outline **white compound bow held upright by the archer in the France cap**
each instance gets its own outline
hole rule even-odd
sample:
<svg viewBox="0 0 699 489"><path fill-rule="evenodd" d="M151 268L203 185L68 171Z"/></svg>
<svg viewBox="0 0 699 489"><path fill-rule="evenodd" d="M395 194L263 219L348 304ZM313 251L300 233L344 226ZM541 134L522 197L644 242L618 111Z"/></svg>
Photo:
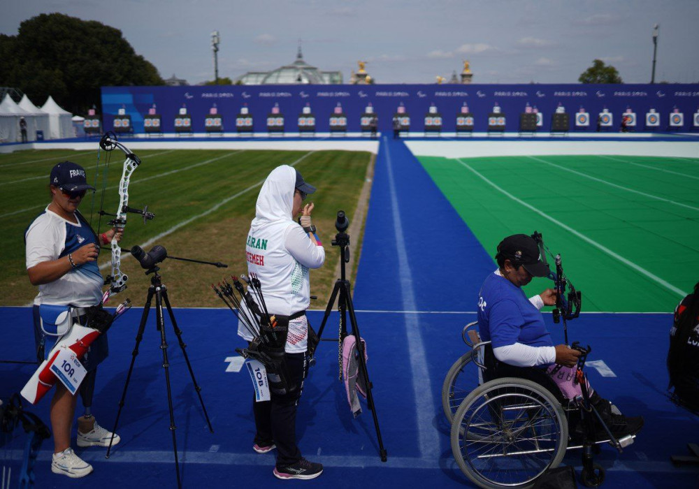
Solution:
<svg viewBox="0 0 699 489"><path fill-rule="evenodd" d="M123 230L126 228L127 225L127 213L131 212L134 214L140 214L143 216L143 224L145 224L146 221L153 219L155 217L155 214L152 212L148 212L148 206L146 205L143 207L143 210L140 209L134 209L132 207L129 207L129 182L131 181L131 173L134 173L134 170L138 168L138 165L140 165L140 158L136 156L129 148L126 146L122 145L117 140L117 136L113 132L108 132L105 133L104 136L102 136L101 140L99 141L99 147L100 149L103 149L108 156L106 156L105 163L104 163L104 170L103 170L103 186L102 186L102 196L101 196L101 203L100 203L100 210L99 210L99 223L97 226L97 234L99 235L99 226L101 225L101 217L102 216L113 216L114 219L111 219L110 221L107 222L109 226L113 226L115 228ZM122 152L124 152L125 159L124 159L124 164L123 164L123 169L122 169L122 178L119 181L119 205L117 206L117 212L115 214L110 214L109 212L105 212L103 210L103 203L104 203L104 192L106 190L106 174L109 169L109 155L110 152L112 152L114 149L121 149ZM99 175L99 150L97 153L97 171L95 173L95 182L97 181L97 177ZM93 207L94 207L94 196L93 196ZM90 213L90 224L92 226L92 212ZM110 275L107 275L107 277L104 279L104 284L109 285L109 290L106 291L106 293L103 295L103 303L106 303L107 300L109 300L110 295L120 293L124 289L127 288L127 280L129 279L129 276L126 275L124 272L121 270L121 256L122 256L122 248L119 245L119 242L117 242L116 237L112 238L111 242L111 251L112 251L112 272Z"/></svg>

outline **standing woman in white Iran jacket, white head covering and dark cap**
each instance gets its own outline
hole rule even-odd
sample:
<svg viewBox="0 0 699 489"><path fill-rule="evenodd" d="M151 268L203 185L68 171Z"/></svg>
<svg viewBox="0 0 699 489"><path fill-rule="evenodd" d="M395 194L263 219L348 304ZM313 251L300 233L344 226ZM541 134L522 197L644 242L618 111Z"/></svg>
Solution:
<svg viewBox="0 0 699 489"><path fill-rule="evenodd" d="M267 453L277 448L273 473L279 479L313 479L323 470L321 464L305 460L296 446L296 406L307 368L308 270L321 267L325 261L325 251L311 223L313 204L303 205L313 192L315 187L304 182L291 166L272 170L257 198L245 247L247 270L259 278L268 312L289 318L284 356L289 384L296 388L283 394L272 391L270 401L252 403L256 427L253 449ZM298 214L301 224L294 221ZM252 340L242 324L238 335Z"/></svg>

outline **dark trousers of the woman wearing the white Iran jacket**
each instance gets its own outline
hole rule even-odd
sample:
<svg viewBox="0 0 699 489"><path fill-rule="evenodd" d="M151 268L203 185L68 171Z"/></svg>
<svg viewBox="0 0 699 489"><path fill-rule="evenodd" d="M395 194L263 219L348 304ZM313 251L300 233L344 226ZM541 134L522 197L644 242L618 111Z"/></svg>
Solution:
<svg viewBox="0 0 699 489"><path fill-rule="evenodd" d="M271 393L271 400L255 402L252 398L252 411L255 416L254 442L259 446L277 446L277 467L286 467L301 460L301 451L296 446L296 407L303 391L305 378L305 353L285 353L289 369L289 382L296 384L296 390L284 395Z"/></svg>

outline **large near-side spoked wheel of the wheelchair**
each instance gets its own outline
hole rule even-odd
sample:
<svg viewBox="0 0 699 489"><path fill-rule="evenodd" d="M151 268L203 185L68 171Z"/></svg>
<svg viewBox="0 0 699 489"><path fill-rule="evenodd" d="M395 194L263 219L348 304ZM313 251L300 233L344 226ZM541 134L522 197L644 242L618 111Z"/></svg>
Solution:
<svg viewBox="0 0 699 489"><path fill-rule="evenodd" d="M456 463L482 488L529 488L561 463L567 446L563 407L526 379L486 382L466 396L452 422Z"/></svg>

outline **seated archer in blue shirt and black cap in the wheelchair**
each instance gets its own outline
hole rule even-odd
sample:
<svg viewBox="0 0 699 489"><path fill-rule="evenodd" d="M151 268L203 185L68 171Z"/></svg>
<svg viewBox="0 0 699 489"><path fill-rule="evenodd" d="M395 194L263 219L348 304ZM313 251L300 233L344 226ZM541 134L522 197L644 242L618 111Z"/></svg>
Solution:
<svg viewBox="0 0 699 489"><path fill-rule="evenodd" d="M521 289L532 277L547 277L539 247L528 235L508 236L498 245L498 270L483 282L478 298L478 328L487 369L484 381L519 377L547 388L566 406L582 395L573 382L580 352L565 344L554 346L539 309L556 303L556 291L547 289L528 299ZM643 426L641 416L621 414L614 404L589 388L590 402L615 437L635 435ZM571 424L575 423L571 418ZM598 423L599 424L599 423ZM582 426L571 426L571 434ZM601 425L600 425L601 428Z"/></svg>

